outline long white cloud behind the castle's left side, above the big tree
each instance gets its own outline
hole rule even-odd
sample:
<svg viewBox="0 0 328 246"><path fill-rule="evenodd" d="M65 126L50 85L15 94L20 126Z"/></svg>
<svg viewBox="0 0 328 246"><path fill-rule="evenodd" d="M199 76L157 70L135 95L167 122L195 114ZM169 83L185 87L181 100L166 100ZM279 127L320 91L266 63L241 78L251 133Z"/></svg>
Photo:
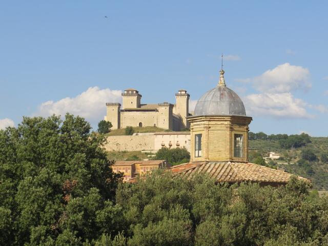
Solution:
<svg viewBox="0 0 328 246"><path fill-rule="evenodd" d="M106 103L120 103L121 91L90 87L75 97L66 97L58 101L42 103L34 115L49 116L52 114L65 115L67 112L85 117L95 123L104 119Z"/></svg>

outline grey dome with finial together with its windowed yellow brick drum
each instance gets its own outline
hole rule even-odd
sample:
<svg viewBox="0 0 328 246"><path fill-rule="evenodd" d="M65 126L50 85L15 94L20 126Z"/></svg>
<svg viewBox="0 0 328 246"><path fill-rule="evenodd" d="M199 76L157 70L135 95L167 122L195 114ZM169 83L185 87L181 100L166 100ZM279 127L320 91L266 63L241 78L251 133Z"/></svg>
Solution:
<svg viewBox="0 0 328 246"><path fill-rule="evenodd" d="M220 70L218 85L197 102L190 122L191 161L248 161L248 131L240 97L226 86Z"/></svg>

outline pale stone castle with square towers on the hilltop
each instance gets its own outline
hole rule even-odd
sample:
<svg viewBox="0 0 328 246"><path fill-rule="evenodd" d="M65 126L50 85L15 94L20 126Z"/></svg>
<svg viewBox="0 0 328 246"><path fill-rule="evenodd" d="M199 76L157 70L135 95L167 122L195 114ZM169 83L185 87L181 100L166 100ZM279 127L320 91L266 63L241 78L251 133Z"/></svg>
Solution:
<svg viewBox="0 0 328 246"><path fill-rule="evenodd" d="M135 89L122 93L122 108L119 103L107 103L105 120L110 121L112 129L131 127L158 127L180 131L189 128L189 97L186 90L175 94L176 104L141 104L141 95Z"/></svg>

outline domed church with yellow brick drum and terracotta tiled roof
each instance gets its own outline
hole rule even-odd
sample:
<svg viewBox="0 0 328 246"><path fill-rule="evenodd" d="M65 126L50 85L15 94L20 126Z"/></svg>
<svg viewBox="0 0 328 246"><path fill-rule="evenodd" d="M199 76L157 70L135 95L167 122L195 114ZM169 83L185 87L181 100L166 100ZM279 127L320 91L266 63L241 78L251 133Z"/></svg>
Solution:
<svg viewBox="0 0 328 246"><path fill-rule="evenodd" d="M169 170L186 178L207 173L216 182L285 185L292 174L248 161L248 132L252 117L246 115L240 97L226 86L223 74L221 69L218 85L198 100L194 114L187 117L190 162ZM128 181L134 182L135 179Z"/></svg>

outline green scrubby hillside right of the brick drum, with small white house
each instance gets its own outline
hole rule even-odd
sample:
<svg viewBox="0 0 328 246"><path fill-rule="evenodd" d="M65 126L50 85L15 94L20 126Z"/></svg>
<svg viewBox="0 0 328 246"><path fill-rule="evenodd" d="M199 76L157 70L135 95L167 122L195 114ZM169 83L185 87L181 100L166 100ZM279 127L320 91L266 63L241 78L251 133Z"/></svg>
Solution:
<svg viewBox="0 0 328 246"><path fill-rule="evenodd" d="M328 137L309 136L308 139L308 134L290 136L279 134L283 137L279 139L279 137L272 137L277 135L270 135L270 137L261 133L260 137L254 137L253 134L258 133L250 133L249 160L251 162L259 162L262 157L269 156L269 152L273 151L279 154L280 158L267 160L265 166L281 168L310 178L315 189L328 190ZM303 136L306 141L297 139L299 136ZM297 147L293 146L293 141L297 142Z"/></svg>

